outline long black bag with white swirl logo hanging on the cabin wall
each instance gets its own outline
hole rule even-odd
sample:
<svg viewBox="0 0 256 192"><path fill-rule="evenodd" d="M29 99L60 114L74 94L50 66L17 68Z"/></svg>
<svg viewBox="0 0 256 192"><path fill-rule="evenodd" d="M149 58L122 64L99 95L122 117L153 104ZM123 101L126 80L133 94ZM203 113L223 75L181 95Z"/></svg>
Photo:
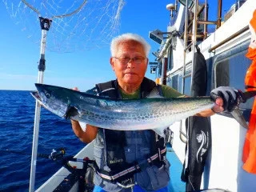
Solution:
<svg viewBox="0 0 256 192"><path fill-rule="evenodd" d="M206 96L207 90L206 59L198 46L196 49L190 93L192 97ZM197 116L186 118L186 133L188 142L186 142L186 158L181 178L186 182L186 191L200 190L202 173L212 146L210 118Z"/></svg>

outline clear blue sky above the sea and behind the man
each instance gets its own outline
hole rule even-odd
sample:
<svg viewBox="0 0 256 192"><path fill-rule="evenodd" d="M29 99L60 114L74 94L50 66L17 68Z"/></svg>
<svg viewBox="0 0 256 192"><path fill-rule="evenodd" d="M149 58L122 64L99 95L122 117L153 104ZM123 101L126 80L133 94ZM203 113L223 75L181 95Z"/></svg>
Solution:
<svg viewBox="0 0 256 192"><path fill-rule="evenodd" d="M22 32L21 26L10 19L10 13L2 2L0 2L2 20L0 90L35 90L34 83L38 82L40 47L30 41L26 32ZM174 3L174 0L126 0L125 2L118 34L139 34L150 43L150 53L157 51L159 45L149 38L149 32L156 29L166 32L170 22L170 12L166 10L166 5ZM210 8L214 8L209 10L211 20L216 17L218 0L208 2ZM235 0L223 0L222 12L229 10L234 2ZM47 33L50 33L50 30ZM41 39L41 34L38 34L38 39ZM66 88L77 86L79 90L86 91L98 82L115 78L110 68L109 46L65 54L46 49L45 58L46 70L43 74L45 84ZM150 54L149 61L154 62L154 59L154 55ZM150 74L150 67L146 71L146 77L153 80L155 78L155 74Z"/></svg>

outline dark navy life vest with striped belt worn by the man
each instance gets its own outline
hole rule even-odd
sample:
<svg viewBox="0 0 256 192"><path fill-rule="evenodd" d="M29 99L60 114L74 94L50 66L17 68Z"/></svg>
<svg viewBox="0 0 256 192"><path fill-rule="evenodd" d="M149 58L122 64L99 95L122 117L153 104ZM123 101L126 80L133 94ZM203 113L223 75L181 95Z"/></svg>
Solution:
<svg viewBox="0 0 256 192"><path fill-rule="evenodd" d="M158 89L162 95L161 86L154 81L144 78L140 88L140 98L146 98L151 90ZM103 97L121 98L118 91L117 80L97 84L94 93ZM126 150L129 150L129 140L133 137L132 133L139 134L142 138L148 140L150 146L144 143L143 150L148 151L144 158L129 161ZM138 138L137 142L141 142L142 138ZM133 149L131 149L133 150ZM94 158L98 165L96 173L106 182L126 182L127 179L133 178L134 174L142 171L147 166L162 166L163 160L166 158L166 145L164 138L155 134L154 130L140 131L120 131L98 129L98 134L94 142ZM97 179L97 177L96 177ZM95 182L95 181L94 181ZM96 181L96 185L98 185Z"/></svg>

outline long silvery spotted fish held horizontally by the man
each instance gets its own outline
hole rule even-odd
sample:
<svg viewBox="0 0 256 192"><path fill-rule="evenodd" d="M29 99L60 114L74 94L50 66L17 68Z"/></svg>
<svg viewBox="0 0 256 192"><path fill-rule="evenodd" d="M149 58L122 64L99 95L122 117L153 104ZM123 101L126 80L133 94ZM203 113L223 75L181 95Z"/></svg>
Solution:
<svg viewBox="0 0 256 192"><path fill-rule="evenodd" d="M174 122L214 106L210 97L113 99L59 86L35 86L38 92L32 95L52 113L110 130L154 130L162 135ZM247 126L241 115L236 118Z"/></svg>

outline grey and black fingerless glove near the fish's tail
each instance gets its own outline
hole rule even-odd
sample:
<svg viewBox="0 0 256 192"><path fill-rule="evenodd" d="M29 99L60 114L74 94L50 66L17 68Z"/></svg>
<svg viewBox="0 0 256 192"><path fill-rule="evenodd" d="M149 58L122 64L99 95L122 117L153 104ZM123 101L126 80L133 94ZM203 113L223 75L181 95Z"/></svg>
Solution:
<svg viewBox="0 0 256 192"><path fill-rule="evenodd" d="M240 92L230 86L219 86L211 90L210 97L216 101L217 98L222 98L224 111L231 112L238 105L238 97Z"/></svg>

